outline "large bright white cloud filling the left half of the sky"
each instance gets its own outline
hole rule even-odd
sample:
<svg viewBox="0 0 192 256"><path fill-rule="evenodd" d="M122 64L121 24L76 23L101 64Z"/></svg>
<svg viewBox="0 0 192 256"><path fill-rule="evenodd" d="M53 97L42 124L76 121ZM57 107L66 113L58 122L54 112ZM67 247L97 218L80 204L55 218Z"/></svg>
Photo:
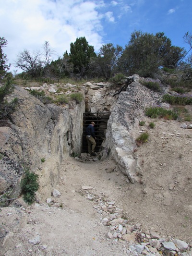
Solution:
<svg viewBox="0 0 192 256"><path fill-rule="evenodd" d="M102 45L99 9L103 0L6 0L0 7L0 37L8 41L4 52L9 62L24 49L41 49L45 41L58 56L70 50L70 43L85 37L95 50ZM105 14L113 22L112 13ZM6 25L5 25L6 24ZM15 69L12 67L12 70Z"/></svg>

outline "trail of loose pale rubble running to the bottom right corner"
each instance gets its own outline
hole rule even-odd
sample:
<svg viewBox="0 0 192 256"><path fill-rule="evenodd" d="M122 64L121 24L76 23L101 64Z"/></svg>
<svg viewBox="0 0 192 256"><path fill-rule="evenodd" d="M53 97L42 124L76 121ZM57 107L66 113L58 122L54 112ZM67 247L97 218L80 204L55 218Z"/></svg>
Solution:
<svg viewBox="0 0 192 256"><path fill-rule="evenodd" d="M95 195L90 192L92 189L89 186L82 187L87 199L96 202L94 208L101 215L101 223L109 228L107 238L127 244L128 255L192 256L192 244L171 237L161 237L157 232L145 231L140 223L129 223L115 201L109 202L104 195Z"/></svg>

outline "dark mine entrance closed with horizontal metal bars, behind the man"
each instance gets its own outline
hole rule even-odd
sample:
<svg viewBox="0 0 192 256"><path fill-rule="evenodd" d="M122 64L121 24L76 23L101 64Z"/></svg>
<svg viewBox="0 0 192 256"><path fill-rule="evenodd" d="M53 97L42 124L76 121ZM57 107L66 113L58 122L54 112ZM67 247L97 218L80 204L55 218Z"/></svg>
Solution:
<svg viewBox="0 0 192 256"><path fill-rule="evenodd" d="M84 125L83 125L83 152L87 152L87 140L86 140L86 127L91 123L95 122L95 134L96 134L96 148L95 152L99 152L101 144L105 139L105 133L107 130L108 119L110 113L109 112L96 112L84 113Z"/></svg>

